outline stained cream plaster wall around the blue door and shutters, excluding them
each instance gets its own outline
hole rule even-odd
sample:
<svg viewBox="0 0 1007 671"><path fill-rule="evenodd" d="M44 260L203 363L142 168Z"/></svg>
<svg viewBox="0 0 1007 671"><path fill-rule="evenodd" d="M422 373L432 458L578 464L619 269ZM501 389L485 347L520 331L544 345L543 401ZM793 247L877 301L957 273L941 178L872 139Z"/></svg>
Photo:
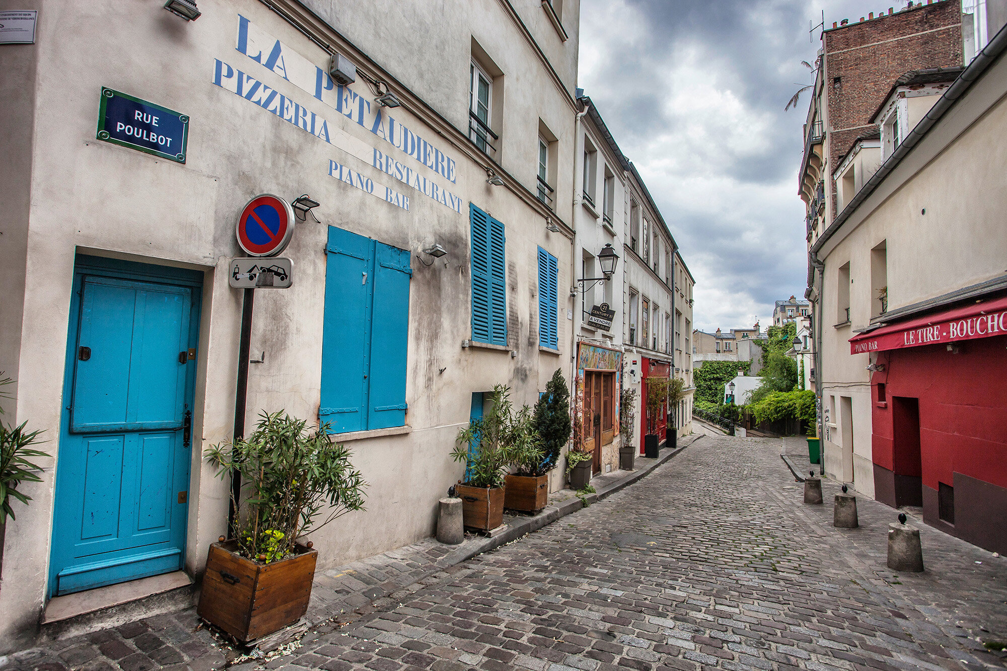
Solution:
<svg viewBox="0 0 1007 671"><path fill-rule="evenodd" d="M454 4L459 12L466 5ZM417 5L417 11L420 8ZM23 204L20 214L15 211L13 223L26 228L27 236L20 257L12 254L11 263L5 264L17 270L20 263L27 269L23 314L31 318L24 321L20 356L10 349L3 350L3 356L5 362L13 362L10 373L20 379L17 420L28 420L33 428L46 431L52 440L48 447L53 458L46 460L44 482L25 488L33 501L18 512L16 522L7 530L5 554L9 561L3 565L0 590L0 652L32 636L45 601L53 467L59 467L54 457L76 253L203 272L185 551L186 569L193 573L200 570L207 545L224 533L227 522L226 484L214 478L201 453L207 445L231 437L242 293L229 287L227 270L230 258L244 256L234 238L235 222L252 195L274 192L291 199L310 193L321 204L314 210L321 224L310 218L298 224L284 252L295 264L293 287L257 291L251 349L253 359L262 352L266 357L264 363L251 366L250 428L261 409L283 408L317 420L327 226L413 253L406 392L410 428L399 435L369 435L349 442L353 463L370 483L368 511L347 515L312 537L320 550L320 567L430 535L437 499L463 474L463 467L454 463L449 453L458 427L468 419L471 393L508 384L517 404L534 403L560 362L568 361L570 331L565 319L559 320L559 355L540 353L537 347L536 249L541 245L559 259L558 284L566 287L571 282L570 242L562 234L546 232L544 219L530 209L526 194L510 186L487 184L483 166L469 158L474 149L467 141L439 135L426 125L429 119L421 118L422 110L412 114L399 109L396 118L421 129L425 139L457 160L457 183L450 186L462 199L462 212L393 179L371 166L356 150L372 145L403 163L412 161L418 170L425 168L391 145L381 144L369 129L315 100L277 72L236 51L239 14L325 69L328 56L323 49L259 2L234 0L200 9L202 16L195 22L184 22L159 4L124 9L112 3L63 1L47 3L39 13L39 43L34 47L39 54L34 134L22 146L13 145L18 149L19 169L27 173L30 165L32 205L27 211L23 185L13 189ZM501 15L498 5L487 3L483 10L482 14L466 14L472 25L458 28L454 36L483 29L480 26L498 27L510 20ZM102 35L101 40L95 39L97 34ZM465 40L467 45L467 36ZM416 72L447 70L447 65L458 73L468 72L467 52L457 62L447 61L428 46L417 59L409 42L369 38L356 43L367 50L378 42L382 48L397 44L396 57L381 64L402 81L422 82ZM549 84L552 88L547 92L535 93L536 87L545 87L543 83L548 82L541 73L542 62L527 42L515 43L522 46L512 46L517 53L509 52L508 57L514 62L516 84L527 86L526 102L541 100L542 114L554 119L553 130L563 148L558 156L559 174L567 175L564 179L569 193L573 115L554 85ZM575 44L572 38L565 48L575 48ZM218 59L327 119L331 143L214 85ZM432 69L431 62L437 68ZM30 80L30 63L18 66ZM530 79L523 82L522 74ZM187 114L186 163L95 140L103 86ZM352 90L361 96L373 96L361 79ZM465 96L455 95L437 112L441 117L459 117L467 110ZM28 98L15 97L15 102L22 102L19 107L11 103L12 114L30 120ZM515 96L514 102L520 103L522 98ZM512 137L515 143L519 141L517 133ZM521 179L527 182L526 174L534 178L532 164L522 165L517 149L514 154L512 165L516 172L520 168ZM409 211L329 176L330 160L408 193ZM426 174L435 176L429 171ZM509 351L462 348L462 342L471 336L469 202L507 226L509 348L514 357ZM559 202L568 216L569 198ZM421 250L435 242L447 250L447 256L423 265L429 257ZM3 247L7 254L6 243ZM4 301L3 309L9 309L8 305ZM559 307L565 311L566 306L569 304L561 291ZM11 317L16 318L19 314Z"/></svg>

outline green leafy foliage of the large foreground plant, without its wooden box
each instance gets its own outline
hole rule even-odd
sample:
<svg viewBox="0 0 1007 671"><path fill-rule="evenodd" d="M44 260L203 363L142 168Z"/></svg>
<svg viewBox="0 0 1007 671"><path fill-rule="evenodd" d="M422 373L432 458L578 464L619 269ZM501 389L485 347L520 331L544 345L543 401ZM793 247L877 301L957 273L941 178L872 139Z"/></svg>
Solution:
<svg viewBox="0 0 1007 671"><path fill-rule="evenodd" d="M327 423L308 426L283 410L259 417L248 438L210 445L204 455L222 479L241 474L239 553L270 563L293 554L304 534L365 510L368 484Z"/></svg>

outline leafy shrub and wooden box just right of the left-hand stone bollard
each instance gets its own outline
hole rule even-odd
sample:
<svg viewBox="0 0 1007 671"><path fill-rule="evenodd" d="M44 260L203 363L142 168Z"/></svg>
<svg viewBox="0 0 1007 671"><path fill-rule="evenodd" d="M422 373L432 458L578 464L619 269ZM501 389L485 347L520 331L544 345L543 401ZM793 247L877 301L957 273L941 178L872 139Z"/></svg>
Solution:
<svg viewBox="0 0 1007 671"><path fill-rule="evenodd" d="M503 524L503 474L512 461L515 419L510 392L502 385L493 387L489 410L458 431L451 452L455 461L465 464L465 482L455 488L463 524L482 532Z"/></svg>

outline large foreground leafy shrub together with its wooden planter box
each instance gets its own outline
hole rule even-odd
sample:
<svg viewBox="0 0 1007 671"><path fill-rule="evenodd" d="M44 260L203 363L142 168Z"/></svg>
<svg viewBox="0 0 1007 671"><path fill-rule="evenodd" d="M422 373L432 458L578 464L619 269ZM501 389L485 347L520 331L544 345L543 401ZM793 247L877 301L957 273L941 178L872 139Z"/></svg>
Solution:
<svg viewBox="0 0 1007 671"><path fill-rule="evenodd" d="M309 427L282 410L260 417L248 438L205 452L219 476L237 473L244 485L237 538L209 546L197 613L242 643L304 615L317 551L297 540L364 510L367 487L327 424Z"/></svg>

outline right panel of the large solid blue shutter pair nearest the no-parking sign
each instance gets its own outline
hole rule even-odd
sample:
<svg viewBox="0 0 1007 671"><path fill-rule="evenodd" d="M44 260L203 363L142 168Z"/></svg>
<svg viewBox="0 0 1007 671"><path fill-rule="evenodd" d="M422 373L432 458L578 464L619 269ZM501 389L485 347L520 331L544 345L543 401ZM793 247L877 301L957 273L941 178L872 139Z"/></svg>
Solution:
<svg viewBox="0 0 1007 671"><path fill-rule="evenodd" d="M380 242L374 282L368 428L406 423L406 350L409 337L409 252Z"/></svg>

